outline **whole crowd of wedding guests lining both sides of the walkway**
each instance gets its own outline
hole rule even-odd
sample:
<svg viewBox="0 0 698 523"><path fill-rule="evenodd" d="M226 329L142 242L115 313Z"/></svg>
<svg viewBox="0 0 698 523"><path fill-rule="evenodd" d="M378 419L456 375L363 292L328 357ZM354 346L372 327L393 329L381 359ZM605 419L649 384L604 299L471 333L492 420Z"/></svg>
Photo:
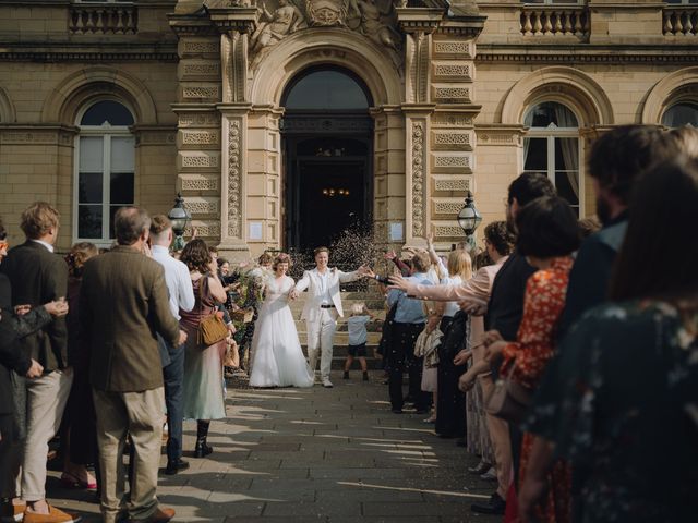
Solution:
<svg viewBox="0 0 698 523"><path fill-rule="evenodd" d="M526 172L508 186L506 220L484 228L483 251L464 242L442 257L429 235L425 248L386 254L389 278L362 266L341 281L372 276L386 294L392 413L433 408L434 435L480 458L469 471L494 491L471 511L520 523L693 521L698 131L612 129L593 141L587 173L600 223L578 220L547 177ZM104 253L79 243L56 254L60 216L47 203L28 206L21 228L26 241L10 250L0 222L0 516L80 521L47 501L48 445L60 433L61 482L97 489L104 521L171 520L156 496L164 426L164 473L190 466L184 418L197 421L192 455L214 452L231 346L243 366L269 332L254 337L250 318L236 332L228 313L264 317L278 297L296 332L290 258L265 253L242 271L192 239L176 259L167 217L139 207L116 212ZM334 332L339 278L330 290L328 250L316 254L317 311ZM345 378L359 357L368 380L371 316L363 305L351 314Z"/></svg>

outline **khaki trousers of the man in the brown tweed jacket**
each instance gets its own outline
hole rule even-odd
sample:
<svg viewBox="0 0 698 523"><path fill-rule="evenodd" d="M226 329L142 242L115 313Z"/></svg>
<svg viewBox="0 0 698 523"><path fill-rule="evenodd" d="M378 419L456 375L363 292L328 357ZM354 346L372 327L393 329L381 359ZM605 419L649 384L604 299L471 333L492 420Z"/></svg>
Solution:
<svg viewBox="0 0 698 523"><path fill-rule="evenodd" d="M120 512L149 518L157 509L157 472L163 438L163 387L143 392L106 392L93 389L97 413L97 445L101 467L101 515L115 523ZM133 484L124 497L122 462L127 434L133 446Z"/></svg>

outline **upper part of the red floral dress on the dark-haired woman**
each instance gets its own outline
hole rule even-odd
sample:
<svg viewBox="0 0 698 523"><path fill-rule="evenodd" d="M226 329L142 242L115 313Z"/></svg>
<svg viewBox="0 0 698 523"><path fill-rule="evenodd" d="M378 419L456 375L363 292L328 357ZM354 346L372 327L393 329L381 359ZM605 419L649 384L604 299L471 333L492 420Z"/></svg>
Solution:
<svg viewBox="0 0 698 523"><path fill-rule="evenodd" d="M517 341L507 343L501 373L529 388L535 388L555 352L555 331L567 294L573 259L554 258L550 268L534 272L526 284L524 316ZM516 362L516 366L514 363Z"/></svg>

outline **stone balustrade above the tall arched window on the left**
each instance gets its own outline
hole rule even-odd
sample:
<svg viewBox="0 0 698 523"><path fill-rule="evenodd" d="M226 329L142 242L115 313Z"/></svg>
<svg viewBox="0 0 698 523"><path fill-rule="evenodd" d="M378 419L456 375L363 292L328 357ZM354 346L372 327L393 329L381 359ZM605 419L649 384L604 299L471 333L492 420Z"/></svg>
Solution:
<svg viewBox="0 0 698 523"><path fill-rule="evenodd" d="M139 11L135 5L130 4L73 4L68 25L71 33L136 33Z"/></svg>

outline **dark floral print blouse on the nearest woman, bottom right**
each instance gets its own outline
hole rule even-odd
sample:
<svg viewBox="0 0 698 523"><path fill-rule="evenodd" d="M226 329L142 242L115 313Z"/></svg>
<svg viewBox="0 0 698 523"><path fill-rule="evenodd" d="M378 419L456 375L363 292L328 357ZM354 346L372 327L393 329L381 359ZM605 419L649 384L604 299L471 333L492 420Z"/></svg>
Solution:
<svg viewBox="0 0 698 523"><path fill-rule="evenodd" d="M571 461L583 523L698 521L698 307L686 311L603 305L561 344L557 394L537 398L527 426Z"/></svg>

